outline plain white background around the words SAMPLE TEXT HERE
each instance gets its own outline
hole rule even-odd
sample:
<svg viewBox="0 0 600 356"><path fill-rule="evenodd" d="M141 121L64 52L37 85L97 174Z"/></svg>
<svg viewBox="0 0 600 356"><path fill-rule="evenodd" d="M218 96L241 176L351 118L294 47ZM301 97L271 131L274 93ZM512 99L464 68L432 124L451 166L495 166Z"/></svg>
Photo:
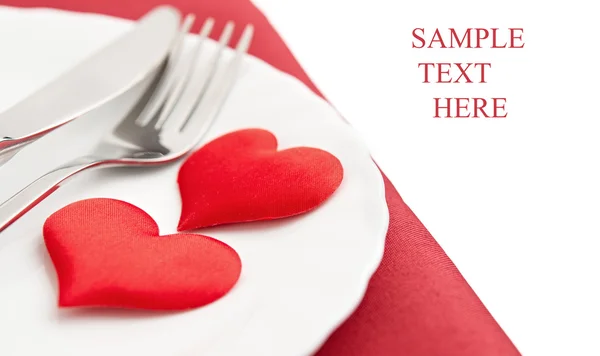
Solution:
<svg viewBox="0 0 600 356"><path fill-rule="evenodd" d="M600 354L596 2L255 3L519 350ZM526 45L412 49L415 27L522 27ZM488 84L417 68L478 61ZM508 118L433 118L457 96L507 97Z"/></svg>

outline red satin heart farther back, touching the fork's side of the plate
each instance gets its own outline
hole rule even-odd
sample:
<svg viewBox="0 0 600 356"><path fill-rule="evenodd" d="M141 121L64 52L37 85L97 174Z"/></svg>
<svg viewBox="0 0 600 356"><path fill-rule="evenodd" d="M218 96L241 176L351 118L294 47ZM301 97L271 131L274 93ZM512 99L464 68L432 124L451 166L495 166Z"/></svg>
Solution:
<svg viewBox="0 0 600 356"><path fill-rule="evenodd" d="M178 229L298 215L329 198L342 178L340 161L326 151L277 151L269 131L235 131L209 142L181 166Z"/></svg>

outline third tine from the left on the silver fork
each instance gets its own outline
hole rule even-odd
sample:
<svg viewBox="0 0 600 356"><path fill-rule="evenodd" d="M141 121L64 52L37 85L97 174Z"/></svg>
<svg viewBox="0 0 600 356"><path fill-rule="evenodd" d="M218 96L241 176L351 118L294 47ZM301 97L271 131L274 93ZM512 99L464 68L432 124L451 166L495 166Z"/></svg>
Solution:
<svg viewBox="0 0 600 356"><path fill-rule="evenodd" d="M198 103L202 100L206 92L208 83L217 71L219 58L231 40L234 28L235 25L233 22L227 22L219 36L217 50L210 57L209 62L207 64L202 61L196 63L192 74L193 79L188 81L182 96L179 98L179 102L171 112L172 115L165 119L164 125L168 126L169 130L179 132L189 116L197 108Z"/></svg>

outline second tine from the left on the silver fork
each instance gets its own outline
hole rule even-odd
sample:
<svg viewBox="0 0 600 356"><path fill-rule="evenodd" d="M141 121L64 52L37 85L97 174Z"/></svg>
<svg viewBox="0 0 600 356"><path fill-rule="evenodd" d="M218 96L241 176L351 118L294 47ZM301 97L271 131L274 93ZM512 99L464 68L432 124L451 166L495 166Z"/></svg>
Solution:
<svg viewBox="0 0 600 356"><path fill-rule="evenodd" d="M189 80L191 78L191 74L194 71L194 63L196 63L198 61L198 57L200 56L200 53L202 52L202 45L206 42L205 40L210 35L210 32L212 31L214 24L215 24L215 20L213 18L208 18L208 19L206 19L206 21L204 21L204 24L202 25L202 28L200 29L200 32L198 33L198 43L196 44L196 47L194 48L194 52L191 56L191 59L184 66L184 70L182 70L182 73L180 73L178 75L179 79L178 79L177 83L173 86L173 90L169 94L169 97L168 97L162 111L160 112L160 116L158 117L158 119L156 121L156 125L155 125L156 129L160 129L162 127L162 125L164 124L167 117L173 111L173 108L177 104L178 100L181 98L181 93L182 93L183 89L186 87L187 83L189 82Z"/></svg>

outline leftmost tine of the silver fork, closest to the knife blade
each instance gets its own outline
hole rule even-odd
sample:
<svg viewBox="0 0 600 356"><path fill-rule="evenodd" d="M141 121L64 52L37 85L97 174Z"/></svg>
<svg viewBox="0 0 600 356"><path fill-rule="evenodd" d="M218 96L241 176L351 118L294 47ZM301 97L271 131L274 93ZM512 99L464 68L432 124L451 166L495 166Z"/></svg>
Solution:
<svg viewBox="0 0 600 356"><path fill-rule="evenodd" d="M156 90L152 93L150 100L147 102L144 110L141 112L139 117L136 119L136 124L145 126L151 122L156 121L159 110L163 107L165 99L173 87L177 77L176 68L181 61L181 53L184 47L185 36L189 32L190 28L194 24L195 16L188 14L183 20L179 34L173 44L173 49L169 54L167 68L160 78ZM154 120L153 120L154 119Z"/></svg>

